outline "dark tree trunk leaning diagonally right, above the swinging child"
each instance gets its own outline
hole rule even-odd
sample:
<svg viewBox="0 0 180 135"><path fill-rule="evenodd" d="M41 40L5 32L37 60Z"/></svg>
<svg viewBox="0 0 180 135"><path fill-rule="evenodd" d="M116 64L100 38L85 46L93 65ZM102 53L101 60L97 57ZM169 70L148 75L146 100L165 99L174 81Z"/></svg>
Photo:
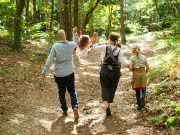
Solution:
<svg viewBox="0 0 180 135"><path fill-rule="evenodd" d="M100 2L100 0L97 0L95 5L87 12L86 17L84 19L84 24L83 24L83 28L86 28L86 25L89 23L89 20L94 12L94 10L96 9L96 7L98 6L98 3Z"/></svg>

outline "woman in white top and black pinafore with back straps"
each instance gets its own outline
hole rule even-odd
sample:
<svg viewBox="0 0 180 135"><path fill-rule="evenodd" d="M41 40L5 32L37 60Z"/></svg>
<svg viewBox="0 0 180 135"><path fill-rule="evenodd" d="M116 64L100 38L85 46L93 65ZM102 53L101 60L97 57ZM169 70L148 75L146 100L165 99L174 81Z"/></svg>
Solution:
<svg viewBox="0 0 180 135"><path fill-rule="evenodd" d="M100 83L102 90L103 108L106 116L111 116L110 103L113 102L114 95L121 76L121 65L129 66L122 49L117 44L120 35L112 32L109 35L107 44L93 45L92 50L102 50L102 66L100 71Z"/></svg>

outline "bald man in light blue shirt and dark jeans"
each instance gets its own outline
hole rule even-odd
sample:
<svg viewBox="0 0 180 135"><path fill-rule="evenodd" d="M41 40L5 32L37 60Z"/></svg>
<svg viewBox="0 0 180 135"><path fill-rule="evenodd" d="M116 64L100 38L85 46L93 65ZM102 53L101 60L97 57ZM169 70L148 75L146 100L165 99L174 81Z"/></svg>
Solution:
<svg viewBox="0 0 180 135"><path fill-rule="evenodd" d="M67 116L67 103L65 99L66 89L71 97L71 105L74 112L74 119L78 120L78 102L74 82L74 68L73 68L73 51L77 47L78 37L76 28L73 29L73 41L66 40L64 30L59 30L57 33L58 41L52 46L45 67L42 70L42 77L45 78L49 66L55 64L55 82L58 86L59 99L63 114Z"/></svg>

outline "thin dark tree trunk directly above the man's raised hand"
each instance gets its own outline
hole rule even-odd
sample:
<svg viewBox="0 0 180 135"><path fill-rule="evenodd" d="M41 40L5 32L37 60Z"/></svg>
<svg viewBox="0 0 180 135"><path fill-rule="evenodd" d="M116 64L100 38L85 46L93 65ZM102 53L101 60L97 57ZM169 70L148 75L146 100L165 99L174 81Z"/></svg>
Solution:
<svg viewBox="0 0 180 135"><path fill-rule="evenodd" d="M79 1L74 0L74 26L76 26L79 29Z"/></svg>

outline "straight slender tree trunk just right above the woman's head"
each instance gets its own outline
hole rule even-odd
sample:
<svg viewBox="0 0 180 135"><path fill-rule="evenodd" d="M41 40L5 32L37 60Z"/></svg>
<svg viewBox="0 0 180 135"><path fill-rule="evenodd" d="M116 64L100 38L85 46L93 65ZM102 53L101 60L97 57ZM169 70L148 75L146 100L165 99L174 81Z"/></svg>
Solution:
<svg viewBox="0 0 180 135"><path fill-rule="evenodd" d="M124 16L124 0L120 0L120 24L121 24L121 29L120 29L120 33L121 33L121 43L125 44L126 43L126 36L125 36L125 16Z"/></svg>

